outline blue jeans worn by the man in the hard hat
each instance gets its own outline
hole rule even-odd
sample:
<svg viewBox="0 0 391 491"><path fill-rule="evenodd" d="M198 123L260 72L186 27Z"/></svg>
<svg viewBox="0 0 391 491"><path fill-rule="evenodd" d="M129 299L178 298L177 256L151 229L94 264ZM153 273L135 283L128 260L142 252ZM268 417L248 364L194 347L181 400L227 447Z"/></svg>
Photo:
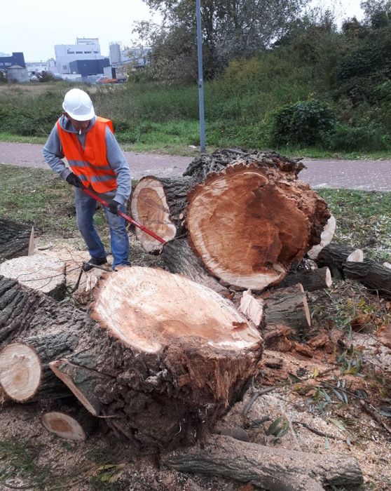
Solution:
<svg viewBox="0 0 391 491"><path fill-rule="evenodd" d="M99 194L91 187L89 189L106 201L113 199L116 194L116 191ZM94 224L94 214L97 202L87 194L84 194L81 189L76 188L75 206L77 226L87 245L90 256L95 257L96 259L103 259L106 257L107 252L104 250L104 245L100 240L100 236L97 234L97 229ZM103 208L107 223L110 227L111 253L114 257L113 269L120 264L130 264L129 238L128 231L125 227L125 219L118 215L114 215L114 213L110 213L105 206ZM125 206L122 205L120 210L125 212Z"/></svg>

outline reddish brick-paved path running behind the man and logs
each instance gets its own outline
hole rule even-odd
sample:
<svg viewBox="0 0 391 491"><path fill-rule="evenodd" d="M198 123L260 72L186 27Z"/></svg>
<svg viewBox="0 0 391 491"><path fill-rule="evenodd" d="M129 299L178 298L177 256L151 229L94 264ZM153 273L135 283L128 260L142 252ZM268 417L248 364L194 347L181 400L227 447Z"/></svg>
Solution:
<svg viewBox="0 0 391 491"><path fill-rule="evenodd" d="M125 152L132 168L132 177L144 175L170 177L181 175L192 157L138 154ZM345 187L366 191L391 191L391 161L370 160L310 160L300 178L312 187ZM42 157L42 145L0 142L0 163L14 166L47 168Z"/></svg>

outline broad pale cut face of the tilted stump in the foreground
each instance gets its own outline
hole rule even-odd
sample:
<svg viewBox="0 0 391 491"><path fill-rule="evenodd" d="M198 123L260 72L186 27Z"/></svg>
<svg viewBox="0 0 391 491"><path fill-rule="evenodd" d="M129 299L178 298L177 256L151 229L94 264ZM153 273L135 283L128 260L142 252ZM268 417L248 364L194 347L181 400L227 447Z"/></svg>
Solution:
<svg viewBox="0 0 391 491"><path fill-rule="evenodd" d="M203 285L161 269L129 271L109 276L92 307L92 318L125 344L154 353L170 339L197 336L235 350L258 339L230 302Z"/></svg>

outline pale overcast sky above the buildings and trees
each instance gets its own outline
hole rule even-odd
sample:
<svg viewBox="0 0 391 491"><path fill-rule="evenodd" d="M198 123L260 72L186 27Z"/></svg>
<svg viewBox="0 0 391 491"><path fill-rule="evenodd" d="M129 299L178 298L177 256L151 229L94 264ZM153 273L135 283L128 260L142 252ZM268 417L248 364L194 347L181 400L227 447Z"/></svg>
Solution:
<svg viewBox="0 0 391 491"><path fill-rule="evenodd" d="M319 3L319 0L314 0ZM339 19L357 15L361 0L324 0L337 4ZM132 43L132 22L151 18L142 0L2 0L0 6L0 52L22 51L26 61L54 58L55 44L72 44L76 37L97 37L102 55L111 41Z"/></svg>

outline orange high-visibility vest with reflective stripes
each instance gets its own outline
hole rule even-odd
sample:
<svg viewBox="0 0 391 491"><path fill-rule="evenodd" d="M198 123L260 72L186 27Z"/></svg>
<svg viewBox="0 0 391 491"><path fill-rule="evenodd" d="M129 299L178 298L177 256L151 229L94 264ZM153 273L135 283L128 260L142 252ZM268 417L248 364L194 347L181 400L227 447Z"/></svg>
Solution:
<svg viewBox="0 0 391 491"><path fill-rule="evenodd" d="M114 133L113 123L109 119L96 116L95 124L85 133L84 149L76 133L61 128L57 121L57 131L62 152L67 157L69 167L85 186L91 185L97 193L107 193L117 187L116 173L109 166L106 155L106 128Z"/></svg>

